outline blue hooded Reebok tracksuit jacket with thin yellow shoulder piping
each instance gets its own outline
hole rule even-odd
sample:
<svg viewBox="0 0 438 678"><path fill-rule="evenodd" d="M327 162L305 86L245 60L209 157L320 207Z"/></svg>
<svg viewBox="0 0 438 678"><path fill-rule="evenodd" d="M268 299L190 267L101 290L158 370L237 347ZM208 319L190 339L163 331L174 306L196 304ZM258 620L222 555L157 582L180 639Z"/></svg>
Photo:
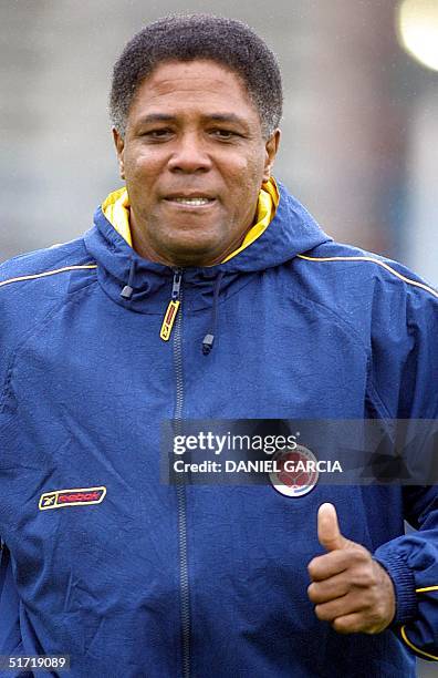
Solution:
<svg viewBox="0 0 438 678"><path fill-rule="evenodd" d="M280 189L250 247L182 271L167 342L174 271L101 209L83 238L0 267L0 654L67 653L72 678L398 678L438 657L436 487L159 482L164 419L437 418L437 292ZM325 501L393 578L382 634L313 612Z"/></svg>

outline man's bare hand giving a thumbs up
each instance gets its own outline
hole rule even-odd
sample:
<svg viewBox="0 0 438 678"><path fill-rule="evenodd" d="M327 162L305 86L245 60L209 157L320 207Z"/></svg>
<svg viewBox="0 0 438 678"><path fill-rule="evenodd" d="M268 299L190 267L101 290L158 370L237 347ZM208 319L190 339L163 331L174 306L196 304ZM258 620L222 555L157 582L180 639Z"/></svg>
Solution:
<svg viewBox="0 0 438 678"><path fill-rule="evenodd" d="M333 504L320 506L317 538L327 552L307 566L317 618L340 634L384 630L395 615L393 582L369 551L342 535Z"/></svg>

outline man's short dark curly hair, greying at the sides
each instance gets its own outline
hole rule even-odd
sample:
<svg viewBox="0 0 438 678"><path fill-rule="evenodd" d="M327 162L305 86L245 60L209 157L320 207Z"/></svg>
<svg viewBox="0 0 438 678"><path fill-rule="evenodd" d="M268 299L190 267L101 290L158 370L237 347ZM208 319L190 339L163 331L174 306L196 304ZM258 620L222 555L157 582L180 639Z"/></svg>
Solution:
<svg viewBox="0 0 438 678"><path fill-rule="evenodd" d="M170 16L129 40L114 65L109 114L124 136L138 86L163 62L209 59L234 71L259 111L262 134L279 126L283 92L275 55L254 31L234 19L209 14Z"/></svg>

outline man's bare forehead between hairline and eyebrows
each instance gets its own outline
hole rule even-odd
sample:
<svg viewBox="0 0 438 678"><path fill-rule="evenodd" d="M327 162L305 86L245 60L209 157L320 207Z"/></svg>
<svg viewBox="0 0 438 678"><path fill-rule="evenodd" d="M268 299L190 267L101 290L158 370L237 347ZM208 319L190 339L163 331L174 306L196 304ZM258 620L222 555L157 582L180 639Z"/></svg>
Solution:
<svg viewBox="0 0 438 678"><path fill-rule="evenodd" d="M131 114L156 106L178 110L201 104L240 110L258 116L243 80L227 66L210 60L160 63L138 86Z"/></svg>

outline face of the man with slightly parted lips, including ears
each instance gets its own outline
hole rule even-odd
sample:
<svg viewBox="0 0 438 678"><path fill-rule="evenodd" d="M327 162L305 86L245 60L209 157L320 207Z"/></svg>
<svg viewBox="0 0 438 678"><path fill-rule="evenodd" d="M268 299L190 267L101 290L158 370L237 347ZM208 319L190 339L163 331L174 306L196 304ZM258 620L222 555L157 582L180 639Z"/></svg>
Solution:
<svg viewBox="0 0 438 678"><path fill-rule="evenodd" d="M138 88L114 140L134 248L170 266L221 261L253 224L279 132L265 141L240 78L213 61L173 61Z"/></svg>

